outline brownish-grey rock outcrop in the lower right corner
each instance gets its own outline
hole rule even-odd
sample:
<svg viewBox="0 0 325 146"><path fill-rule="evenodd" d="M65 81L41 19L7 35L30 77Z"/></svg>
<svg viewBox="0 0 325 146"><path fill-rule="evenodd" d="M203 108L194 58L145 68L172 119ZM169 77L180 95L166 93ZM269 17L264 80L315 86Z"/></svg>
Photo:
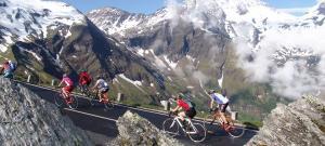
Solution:
<svg viewBox="0 0 325 146"><path fill-rule="evenodd" d="M247 145L325 145L325 102L303 97L288 106L278 105Z"/></svg>

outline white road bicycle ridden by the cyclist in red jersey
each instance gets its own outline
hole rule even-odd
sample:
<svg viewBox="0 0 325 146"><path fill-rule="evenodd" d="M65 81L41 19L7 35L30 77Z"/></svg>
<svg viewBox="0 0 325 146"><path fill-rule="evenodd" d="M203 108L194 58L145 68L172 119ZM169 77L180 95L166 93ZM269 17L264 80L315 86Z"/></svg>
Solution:
<svg viewBox="0 0 325 146"><path fill-rule="evenodd" d="M177 116L177 114L169 112L169 118L162 122L162 131L170 134L171 136L176 136L181 134L181 130L183 133L188 135L188 137L195 143L205 141L207 136L207 131L205 127L200 123L193 123L192 120L188 118L184 119L185 121L183 123L180 117Z"/></svg>

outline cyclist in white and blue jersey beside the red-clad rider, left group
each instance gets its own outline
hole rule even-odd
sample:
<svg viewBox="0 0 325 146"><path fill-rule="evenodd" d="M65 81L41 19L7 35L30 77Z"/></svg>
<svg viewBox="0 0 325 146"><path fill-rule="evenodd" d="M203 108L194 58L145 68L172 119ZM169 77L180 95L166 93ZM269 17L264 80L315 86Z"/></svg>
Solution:
<svg viewBox="0 0 325 146"><path fill-rule="evenodd" d="M93 85L93 90L96 90L98 95L100 97L100 102L108 103L107 92L109 90L108 83L101 77L96 77L98 81Z"/></svg>

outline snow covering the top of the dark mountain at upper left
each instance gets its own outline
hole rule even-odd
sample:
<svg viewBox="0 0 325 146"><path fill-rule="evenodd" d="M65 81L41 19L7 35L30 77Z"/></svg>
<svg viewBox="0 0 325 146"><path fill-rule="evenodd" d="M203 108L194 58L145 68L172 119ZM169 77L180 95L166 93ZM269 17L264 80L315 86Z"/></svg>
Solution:
<svg viewBox="0 0 325 146"><path fill-rule="evenodd" d="M73 25L84 22L84 16L73 6L58 1L4 0L6 6L0 10L0 26L18 37L28 40L28 35L47 37L53 25ZM39 29L41 28L41 29Z"/></svg>

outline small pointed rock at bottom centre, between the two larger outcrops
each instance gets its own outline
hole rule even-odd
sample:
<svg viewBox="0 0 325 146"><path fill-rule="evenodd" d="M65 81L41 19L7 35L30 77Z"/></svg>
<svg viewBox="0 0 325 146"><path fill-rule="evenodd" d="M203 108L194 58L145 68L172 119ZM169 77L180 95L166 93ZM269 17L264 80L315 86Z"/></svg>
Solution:
<svg viewBox="0 0 325 146"><path fill-rule="evenodd" d="M131 111L118 118L117 127L119 136L115 144L119 146L182 146L177 140L161 133L151 122Z"/></svg>

